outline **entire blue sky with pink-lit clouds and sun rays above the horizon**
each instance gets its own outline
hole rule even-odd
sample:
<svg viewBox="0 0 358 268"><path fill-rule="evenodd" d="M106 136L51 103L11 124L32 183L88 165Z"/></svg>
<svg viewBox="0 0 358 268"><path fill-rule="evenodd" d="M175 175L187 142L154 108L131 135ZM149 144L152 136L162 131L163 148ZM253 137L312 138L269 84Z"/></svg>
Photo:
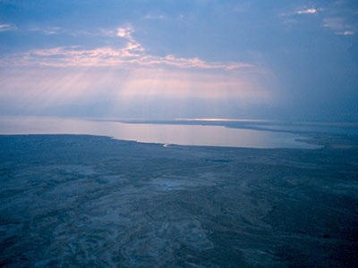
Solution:
<svg viewBox="0 0 358 268"><path fill-rule="evenodd" d="M358 121L358 1L0 0L0 115Z"/></svg>

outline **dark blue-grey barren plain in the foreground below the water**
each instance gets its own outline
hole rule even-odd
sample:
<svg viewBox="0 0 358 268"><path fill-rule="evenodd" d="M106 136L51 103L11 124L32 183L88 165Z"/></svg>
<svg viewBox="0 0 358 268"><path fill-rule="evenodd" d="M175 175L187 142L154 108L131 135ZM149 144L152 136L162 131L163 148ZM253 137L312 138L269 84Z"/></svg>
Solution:
<svg viewBox="0 0 358 268"><path fill-rule="evenodd" d="M311 142L0 136L0 266L357 266L357 141Z"/></svg>

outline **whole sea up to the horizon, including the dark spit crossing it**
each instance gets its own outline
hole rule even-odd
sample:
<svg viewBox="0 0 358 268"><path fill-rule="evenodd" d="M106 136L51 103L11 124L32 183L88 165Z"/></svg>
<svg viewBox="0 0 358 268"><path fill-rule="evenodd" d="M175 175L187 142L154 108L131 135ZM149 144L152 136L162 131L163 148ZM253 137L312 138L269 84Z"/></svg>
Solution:
<svg viewBox="0 0 358 268"><path fill-rule="evenodd" d="M0 116L0 134L77 134L108 136L144 143L181 146L302 148L320 146L307 142L312 133L337 133L337 124L283 123L225 119L129 121L117 119ZM357 131L357 126L345 128ZM357 131L358 132L358 131Z"/></svg>

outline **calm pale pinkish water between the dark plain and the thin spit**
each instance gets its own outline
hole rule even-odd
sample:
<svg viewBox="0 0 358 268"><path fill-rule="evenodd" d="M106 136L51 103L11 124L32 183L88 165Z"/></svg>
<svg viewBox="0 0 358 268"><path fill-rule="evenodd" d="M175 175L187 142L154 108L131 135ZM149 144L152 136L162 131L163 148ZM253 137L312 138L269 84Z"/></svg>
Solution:
<svg viewBox="0 0 358 268"><path fill-rule="evenodd" d="M0 134L90 134L139 142L255 148L317 148L302 136L222 126L122 123L55 117L0 116Z"/></svg>

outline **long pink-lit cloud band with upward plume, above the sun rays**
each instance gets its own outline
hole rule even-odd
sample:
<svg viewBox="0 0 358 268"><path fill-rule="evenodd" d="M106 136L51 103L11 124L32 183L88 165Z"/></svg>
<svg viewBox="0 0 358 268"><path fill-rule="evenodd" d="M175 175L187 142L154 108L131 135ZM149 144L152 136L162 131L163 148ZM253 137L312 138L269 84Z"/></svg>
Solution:
<svg viewBox="0 0 358 268"><path fill-rule="evenodd" d="M105 46L84 49L80 46L58 46L48 49L35 49L24 53L10 54L3 58L0 65L7 66L54 66L54 67L103 67L103 66L141 66L152 68L159 66L179 69L217 69L223 71L255 70L249 63L213 63L198 57L183 58L167 54L158 56L149 54L132 37L132 28L116 29L116 37L127 39L120 48Z"/></svg>

